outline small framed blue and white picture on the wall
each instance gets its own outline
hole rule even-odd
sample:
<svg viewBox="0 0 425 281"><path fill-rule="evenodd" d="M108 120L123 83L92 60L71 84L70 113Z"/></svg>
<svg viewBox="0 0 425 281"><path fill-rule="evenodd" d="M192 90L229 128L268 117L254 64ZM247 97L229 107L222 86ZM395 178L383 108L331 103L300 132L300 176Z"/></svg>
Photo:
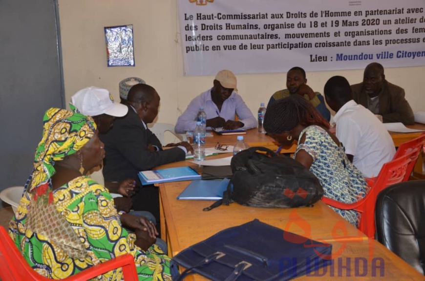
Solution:
<svg viewBox="0 0 425 281"><path fill-rule="evenodd" d="M105 27L107 66L134 66L133 25Z"/></svg>

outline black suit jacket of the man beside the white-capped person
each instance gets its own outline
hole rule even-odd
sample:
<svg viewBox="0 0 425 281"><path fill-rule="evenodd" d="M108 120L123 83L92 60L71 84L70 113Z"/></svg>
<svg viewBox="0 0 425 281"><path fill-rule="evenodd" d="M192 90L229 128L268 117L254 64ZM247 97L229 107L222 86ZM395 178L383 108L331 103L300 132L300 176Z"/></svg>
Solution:
<svg viewBox="0 0 425 281"><path fill-rule="evenodd" d="M106 150L103 167L105 181L122 181L127 178L139 180L139 171L183 161L186 157L185 152L178 147L162 150L161 142L149 128L145 129L131 106L128 106L125 117L115 119L112 129L99 137L105 143ZM149 151L149 143L159 147L160 151Z"/></svg>

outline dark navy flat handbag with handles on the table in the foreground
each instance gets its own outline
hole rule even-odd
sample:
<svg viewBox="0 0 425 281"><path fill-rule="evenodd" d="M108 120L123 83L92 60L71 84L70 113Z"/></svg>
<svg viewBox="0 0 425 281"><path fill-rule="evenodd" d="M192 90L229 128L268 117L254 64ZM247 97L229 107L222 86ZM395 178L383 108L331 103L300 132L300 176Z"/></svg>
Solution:
<svg viewBox="0 0 425 281"><path fill-rule="evenodd" d="M213 281L286 281L331 264L332 245L285 232L258 220L231 227L177 254L186 268L175 281L198 273Z"/></svg>

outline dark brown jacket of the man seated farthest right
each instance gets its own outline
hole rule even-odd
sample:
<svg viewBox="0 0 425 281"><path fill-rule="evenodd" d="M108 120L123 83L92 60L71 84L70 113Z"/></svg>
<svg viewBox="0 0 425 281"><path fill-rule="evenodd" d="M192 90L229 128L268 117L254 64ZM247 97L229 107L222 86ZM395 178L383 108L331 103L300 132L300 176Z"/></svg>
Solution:
<svg viewBox="0 0 425 281"><path fill-rule="evenodd" d="M351 85L351 90L354 101L367 108L367 94L364 91L363 83ZM405 125L415 123L412 108L404 99L403 88L385 80L383 90L378 97L379 114L382 115L384 123L402 122Z"/></svg>

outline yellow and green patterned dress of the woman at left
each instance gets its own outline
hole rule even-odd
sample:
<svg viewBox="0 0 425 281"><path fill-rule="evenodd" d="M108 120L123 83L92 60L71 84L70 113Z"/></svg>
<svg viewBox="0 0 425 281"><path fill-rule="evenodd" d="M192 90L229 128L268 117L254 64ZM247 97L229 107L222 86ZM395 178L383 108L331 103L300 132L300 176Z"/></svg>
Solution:
<svg viewBox="0 0 425 281"><path fill-rule="evenodd" d="M144 252L134 245L136 236L121 226L114 202L105 187L85 176L76 178L53 192L56 209L65 217L84 243L88 256L73 259L48 237L26 229L27 208L31 200L24 193L9 234L30 266L44 277L64 279L85 268L126 253L134 256L139 280L171 280L170 258L152 245ZM121 268L96 280L123 280Z"/></svg>

